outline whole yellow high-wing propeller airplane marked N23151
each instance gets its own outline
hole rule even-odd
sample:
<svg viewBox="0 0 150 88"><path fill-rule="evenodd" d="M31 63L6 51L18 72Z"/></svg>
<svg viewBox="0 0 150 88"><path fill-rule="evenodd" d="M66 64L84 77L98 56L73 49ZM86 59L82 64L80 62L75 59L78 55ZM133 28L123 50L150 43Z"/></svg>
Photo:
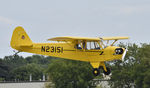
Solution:
<svg viewBox="0 0 150 88"><path fill-rule="evenodd" d="M53 56L71 60L89 62L93 67L93 74L98 76L100 69L105 75L111 73L105 66L105 61L123 60L126 55L126 49L114 46L114 43L121 39L129 37L55 37L48 41L55 43L33 43L22 27L16 27L12 38L11 47L20 52L30 52L46 56ZM108 46L110 40L113 42ZM107 44L104 44L104 41Z"/></svg>

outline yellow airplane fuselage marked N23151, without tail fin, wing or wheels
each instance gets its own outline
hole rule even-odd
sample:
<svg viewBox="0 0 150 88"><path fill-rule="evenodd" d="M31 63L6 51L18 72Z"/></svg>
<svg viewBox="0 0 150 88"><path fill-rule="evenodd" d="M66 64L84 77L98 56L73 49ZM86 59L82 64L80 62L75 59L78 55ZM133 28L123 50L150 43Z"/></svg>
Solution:
<svg viewBox="0 0 150 88"><path fill-rule="evenodd" d="M108 46L104 49L76 49L73 43L33 43L32 46L22 46L19 51L59 57L87 62L102 62L121 59L122 55L115 55L118 47Z"/></svg>

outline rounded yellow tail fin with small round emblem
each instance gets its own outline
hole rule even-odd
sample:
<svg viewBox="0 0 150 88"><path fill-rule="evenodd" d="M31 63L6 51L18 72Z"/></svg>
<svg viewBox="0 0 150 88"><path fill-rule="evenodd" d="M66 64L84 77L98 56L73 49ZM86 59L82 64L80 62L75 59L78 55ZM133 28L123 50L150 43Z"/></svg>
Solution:
<svg viewBox="0 0 150 88"><path fill-rule="evenodd" d="M25 30L20 26L15 28L10 44L12 48L19 51L21 51L20 47L30 47L33 45Z"/></svg>

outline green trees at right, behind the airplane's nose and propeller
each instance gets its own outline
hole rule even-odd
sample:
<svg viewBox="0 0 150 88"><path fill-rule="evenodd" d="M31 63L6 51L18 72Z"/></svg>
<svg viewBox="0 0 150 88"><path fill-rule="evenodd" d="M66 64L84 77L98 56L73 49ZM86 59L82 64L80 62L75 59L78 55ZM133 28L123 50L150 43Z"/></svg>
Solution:
<svg viewBox="0 0 150 88"><path fill-rule="evenodd" d="M123 44L122 44L123 45ZM125 45L123 45L125 46ZM113 88L149 88L150 45L128 45L125 62L115 61L110 84Z"/></svg>

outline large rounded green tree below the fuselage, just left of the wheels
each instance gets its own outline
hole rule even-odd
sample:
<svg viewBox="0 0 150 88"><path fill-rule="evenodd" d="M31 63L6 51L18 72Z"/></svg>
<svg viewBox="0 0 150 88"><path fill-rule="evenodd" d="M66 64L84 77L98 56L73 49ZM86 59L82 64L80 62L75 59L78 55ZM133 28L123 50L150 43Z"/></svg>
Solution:
<svg viewBox="0 0 150 88"><path fill-rule="evenodd" d="M87 62L53 60L47 72L56 88L87 88L93 79L92 67Z"/></svg>

